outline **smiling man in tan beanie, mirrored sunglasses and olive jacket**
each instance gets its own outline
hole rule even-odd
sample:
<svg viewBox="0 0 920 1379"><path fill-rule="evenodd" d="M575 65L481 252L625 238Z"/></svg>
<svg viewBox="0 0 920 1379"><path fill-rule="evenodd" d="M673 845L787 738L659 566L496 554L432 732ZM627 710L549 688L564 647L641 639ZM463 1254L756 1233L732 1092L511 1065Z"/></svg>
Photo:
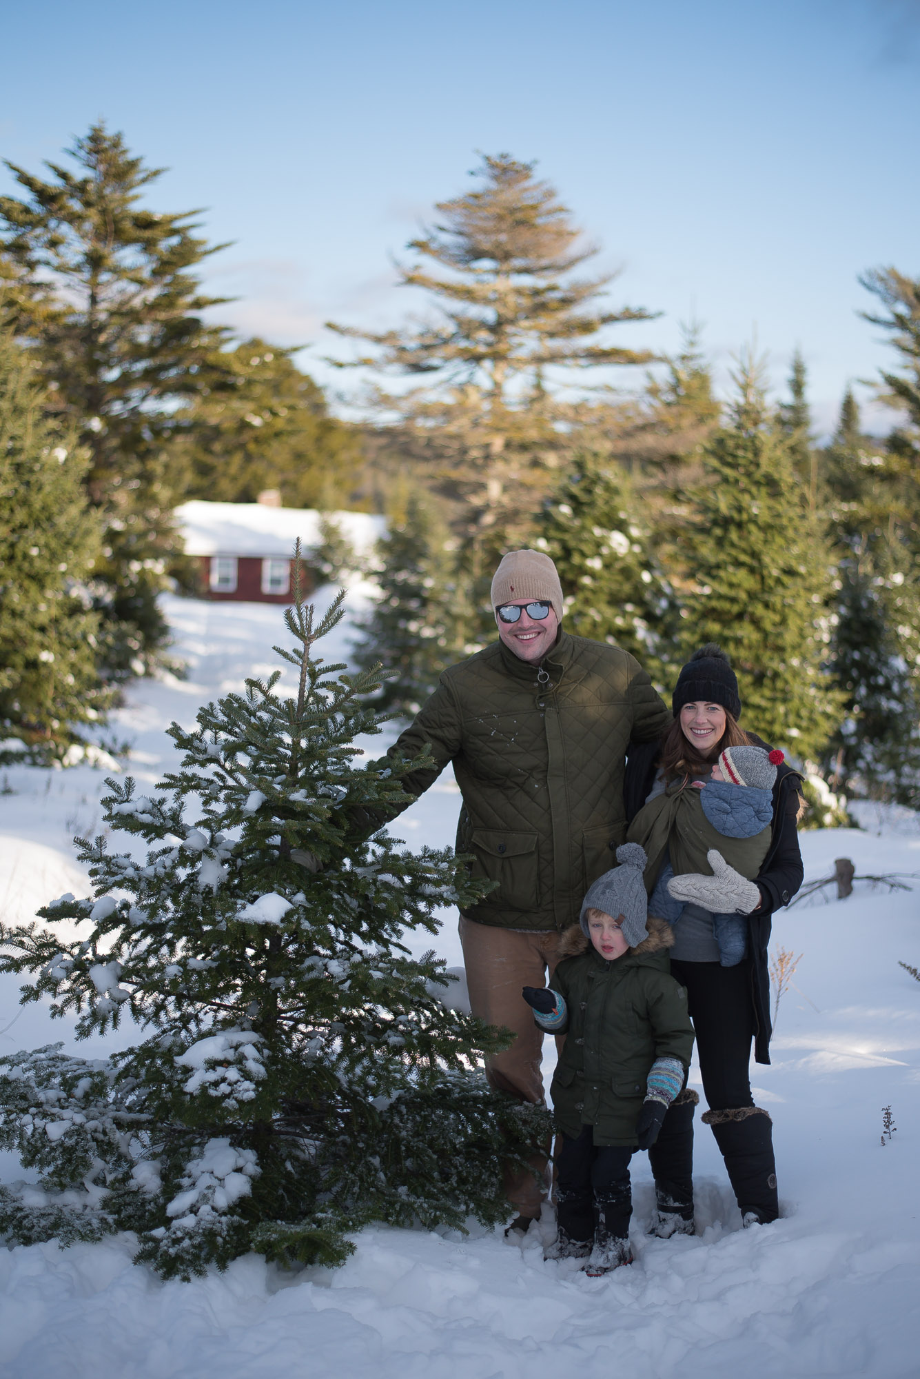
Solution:
<svg viewBox="0 0 920 1379"><path fill-rule="evenodd" d="M562 929L625 840L623 776L629 741L657 739L671 714L628 652L563 632L552 560L512 550L492 581L499 641L450 666L391 753L431 746L434 769L404 776L420 796L449 761L463 794L457 852L497 881L460 916L472 1014L515 1034L490 1059L493 1087L543 1100L543 1031L523 986L544 986ZM539 1165L540 1168L545 1167ZM532 1174L505 1183L518 1229L540 1215Z"/></svg>

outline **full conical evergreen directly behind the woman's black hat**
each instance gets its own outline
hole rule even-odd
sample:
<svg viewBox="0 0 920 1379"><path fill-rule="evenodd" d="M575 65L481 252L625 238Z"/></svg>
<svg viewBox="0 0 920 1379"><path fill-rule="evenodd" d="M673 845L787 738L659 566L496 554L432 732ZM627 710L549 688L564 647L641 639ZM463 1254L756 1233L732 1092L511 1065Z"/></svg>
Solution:
<svg viewBox="0 0 920 1379"><path fill-rule="evenodd" d="M687 531L696 589L682 611L683 647L718 641L731 656L744 725L797 758L817 758L840 717L825 670L832 557L773 425L763 368L734 375L726 426L705 448Z"/></svg>

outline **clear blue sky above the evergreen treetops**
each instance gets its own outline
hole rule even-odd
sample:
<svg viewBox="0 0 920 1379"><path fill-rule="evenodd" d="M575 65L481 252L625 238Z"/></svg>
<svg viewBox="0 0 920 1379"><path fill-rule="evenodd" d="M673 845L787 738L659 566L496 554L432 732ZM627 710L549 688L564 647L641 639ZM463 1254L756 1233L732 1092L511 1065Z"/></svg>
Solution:
<svg viewBox="0 0 920 1379"><path fill-rule="evenodd" d="M611 301L664 313L611 339L696 316L724 379L756 331L778 389L800 345L821 427L892 363L857 276L920 274L920 0L33 0L4 40L0 153L39 171L103 116L169 168L151 204L234 241L222 319L335 386L322 321L419 309L393 258L477 150L537 159Z"/></svg>

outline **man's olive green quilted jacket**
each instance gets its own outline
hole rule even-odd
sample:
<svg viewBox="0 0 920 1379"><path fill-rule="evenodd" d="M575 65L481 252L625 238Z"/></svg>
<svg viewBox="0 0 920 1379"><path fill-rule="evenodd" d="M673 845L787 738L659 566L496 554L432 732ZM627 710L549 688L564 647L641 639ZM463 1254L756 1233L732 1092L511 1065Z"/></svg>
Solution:
<svg viewBox="0 0 920 1379"><path fill-rule="evenodd" d="M463 794L457 852L497 881L468 920L563 929L627 836L627 743L661 736L671 714L639 662L561 632L541 666L497 641L441 676L391 753L431 745L435 768L409 772L413 796L453 769Z"/></svg>

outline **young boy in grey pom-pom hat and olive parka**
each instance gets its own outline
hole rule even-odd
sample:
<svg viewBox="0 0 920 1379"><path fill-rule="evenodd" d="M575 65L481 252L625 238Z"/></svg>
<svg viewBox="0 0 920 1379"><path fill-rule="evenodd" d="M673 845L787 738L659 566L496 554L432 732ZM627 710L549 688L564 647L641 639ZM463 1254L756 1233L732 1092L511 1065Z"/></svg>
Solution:
<svg viewBox="0 0 920 1379"><path fill-rule="evenodd" d="M629 1160L654 1145L690 1065L686 992L668 972L673 934L647 918L636 843L588 889L562 936L548 989L525 986L541 1029L566 1034L552 1078L561 1132L558 1240L548 1259L587 1259L594 1277L632 1263Z"/></svg>

